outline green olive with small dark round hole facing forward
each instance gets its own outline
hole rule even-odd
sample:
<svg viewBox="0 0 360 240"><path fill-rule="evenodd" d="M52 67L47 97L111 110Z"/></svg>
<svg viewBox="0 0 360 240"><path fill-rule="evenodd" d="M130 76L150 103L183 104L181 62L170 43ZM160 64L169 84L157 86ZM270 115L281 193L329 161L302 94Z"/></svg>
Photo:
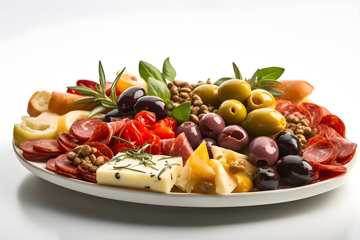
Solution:
<svg viewBox="0 0 360 240"><path fill-rule="evenodd" d="M240 125L246 119L246 108L238 100L230 99L224 101L217 110L226 125Z"/></svg>

